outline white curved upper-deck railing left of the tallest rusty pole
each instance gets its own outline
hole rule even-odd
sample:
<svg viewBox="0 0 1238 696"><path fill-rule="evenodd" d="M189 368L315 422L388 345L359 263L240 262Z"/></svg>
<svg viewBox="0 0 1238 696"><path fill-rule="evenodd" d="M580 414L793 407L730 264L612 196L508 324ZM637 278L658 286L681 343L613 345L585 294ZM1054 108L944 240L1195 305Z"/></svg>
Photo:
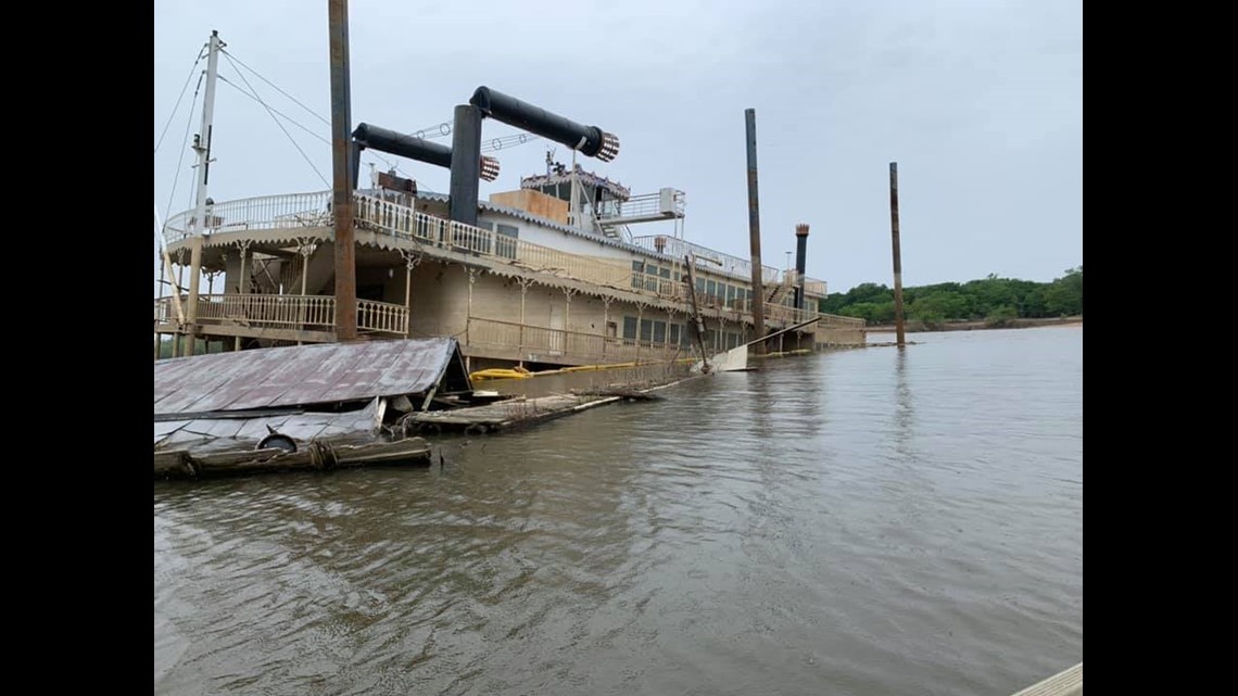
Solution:
<svg viewBox="0 0 1238 696"><path fill-rule="evenodd" d="M196 211L177 213L163 224L163 239L172 244L199 233L331 225L329 203L329 191L212 203L204 227L194 224Z"/></svg>

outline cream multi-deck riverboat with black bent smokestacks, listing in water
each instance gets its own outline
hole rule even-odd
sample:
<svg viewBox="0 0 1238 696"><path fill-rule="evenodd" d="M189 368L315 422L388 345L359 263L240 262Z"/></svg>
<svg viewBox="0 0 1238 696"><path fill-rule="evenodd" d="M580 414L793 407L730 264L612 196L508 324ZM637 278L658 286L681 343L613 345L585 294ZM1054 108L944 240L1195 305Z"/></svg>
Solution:
<svg viewBox="0 0 1238 696"><path fill-rule="evenodd" d="M217 42L213 35L212 56ZM194 337L224 349L334 342L332 192L208 198L209 92L207 102L194 145L197 204L160 228L172 292L155 300L156 349L160 336L173 337L177 354L192 354L194 342L184 339ZM547 155L545 173L479 199L478 181L498 176L498 162L478 147L484 119L566 144L572 161ZM801 270L764 266L764 292L754 296L750 260L683 238L682 191L633 194L576 162L577 154L614 159L614 135L485 87L457 107L452 128L451 147L364 123L353 133L360 338L453 337L470 370L687 358L692 264L707 350L756 338L756 303L766 332L818 318L773 349L864 342L862 320L818 315L826 284L803 277L802 259ZM451 191L418 191L395 172L361 182L366 149L448 167ZM640 234L654 225L671 229ZM222 279L222 291L201 292L199 272L212 287Z"/></svg>

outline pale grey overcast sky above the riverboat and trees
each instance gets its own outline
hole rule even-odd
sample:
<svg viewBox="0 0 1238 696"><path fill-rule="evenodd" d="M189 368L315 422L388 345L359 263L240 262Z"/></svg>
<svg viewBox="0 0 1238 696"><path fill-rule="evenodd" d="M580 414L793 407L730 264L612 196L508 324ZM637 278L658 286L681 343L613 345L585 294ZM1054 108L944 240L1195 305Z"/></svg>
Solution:
<svg viewBox="0 0 1238 696"><path fill-rule="evenodd" d="M353 0L353 125L416 131L491 87L617 134L613 162L578 161L633 193L685 191L687 239L747 258L753 108L766 265L786 265L805 222L807 272L832 292L893 285L896 161L905 286L990 272L1047 281L1083 263L1081 12L1080 0ZM326 0L155 0L156 140L213 28L235 58L329 120ZM322 120L241 73L272 108L329 139ZM227 59L220 74L244 84ZM183 145L201 121L201 99L192 118L188 109L196 83L155 154L162 215L192 206ZM285 128L331 181L329 146ZM516 133L483 126L484 140ZM569 161L545 140L504 149L482 196L543 172L547 145ZM329 188L267 111L224 83L213 156L215 201ZM448 189L447 170L379 156L423 189Z"/></svg>

